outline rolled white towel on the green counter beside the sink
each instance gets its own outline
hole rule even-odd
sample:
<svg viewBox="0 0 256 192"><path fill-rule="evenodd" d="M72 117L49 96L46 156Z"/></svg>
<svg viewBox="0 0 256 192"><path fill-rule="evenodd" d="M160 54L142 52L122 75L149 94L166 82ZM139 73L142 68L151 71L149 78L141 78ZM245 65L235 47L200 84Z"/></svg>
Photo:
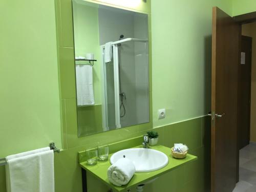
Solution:
<svg viewBox="0 0 256 192"><path fill-rule="evenodd" d="M116 186L127 184L135 174L135 166L130 159L122 158L108 169L108 178Z"/></svg>

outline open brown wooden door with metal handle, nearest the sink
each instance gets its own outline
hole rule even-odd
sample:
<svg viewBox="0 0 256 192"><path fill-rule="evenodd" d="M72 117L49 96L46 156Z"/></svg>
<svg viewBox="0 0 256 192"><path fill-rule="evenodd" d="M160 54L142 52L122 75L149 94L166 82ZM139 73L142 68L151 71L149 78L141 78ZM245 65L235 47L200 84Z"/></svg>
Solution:
<svg viewBox="0 0 256 192"><path fill-rule="evenodd" d="M212 11L211 191L231 192L237 182L237 91L241 26Z"/></svg>

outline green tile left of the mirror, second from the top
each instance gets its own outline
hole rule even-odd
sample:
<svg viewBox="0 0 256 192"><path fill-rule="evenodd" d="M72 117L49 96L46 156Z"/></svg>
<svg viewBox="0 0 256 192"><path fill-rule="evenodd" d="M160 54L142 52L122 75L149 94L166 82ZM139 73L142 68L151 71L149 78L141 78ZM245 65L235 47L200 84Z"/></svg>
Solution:
<svg viewBox="0 0 256 192"><path fill-rule="evenodd" d="M74 49L59 47L58 50L61 98L76 98Z"/></svg>

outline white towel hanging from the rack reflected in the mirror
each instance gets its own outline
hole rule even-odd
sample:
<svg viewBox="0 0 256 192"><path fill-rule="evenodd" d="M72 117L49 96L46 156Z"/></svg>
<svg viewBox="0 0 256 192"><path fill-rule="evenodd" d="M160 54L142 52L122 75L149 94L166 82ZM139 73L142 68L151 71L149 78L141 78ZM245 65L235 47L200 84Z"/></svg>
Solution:
<svg viewBox="0 0 256 192"><path fill-rule="evenodd" d="M77 105L94 104L93 67L91 65L76 65L76 97Z"/></svg>

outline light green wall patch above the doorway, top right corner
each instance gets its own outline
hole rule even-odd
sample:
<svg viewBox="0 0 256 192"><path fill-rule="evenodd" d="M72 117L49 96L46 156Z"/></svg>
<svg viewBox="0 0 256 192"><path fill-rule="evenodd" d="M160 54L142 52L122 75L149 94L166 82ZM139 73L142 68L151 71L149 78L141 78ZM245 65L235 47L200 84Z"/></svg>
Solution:
<svg viewBox="0 0 256 192"><path fill-rule="evenodd" d="M256 11L256 1L255 0L232 0L233 11L232 15L242 15L245 13L250 13Z"/></svg>

